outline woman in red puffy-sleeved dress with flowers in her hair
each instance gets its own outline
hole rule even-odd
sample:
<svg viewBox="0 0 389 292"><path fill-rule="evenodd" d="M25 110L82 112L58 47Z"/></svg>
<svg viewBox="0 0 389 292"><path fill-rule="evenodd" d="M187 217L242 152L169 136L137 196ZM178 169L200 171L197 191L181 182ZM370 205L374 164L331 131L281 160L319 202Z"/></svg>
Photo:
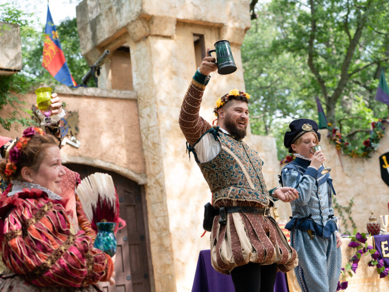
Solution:
<svg viewBox="0 0 389 292"><path fill-rule="evenodd" d="M10 181L0 196L1 257L8 272L0 291L101 291L114 284L113 261L92 246L84 231L71 232L69 213L58 195L65 171L57 140L27 128L0 161Z"/></svg>

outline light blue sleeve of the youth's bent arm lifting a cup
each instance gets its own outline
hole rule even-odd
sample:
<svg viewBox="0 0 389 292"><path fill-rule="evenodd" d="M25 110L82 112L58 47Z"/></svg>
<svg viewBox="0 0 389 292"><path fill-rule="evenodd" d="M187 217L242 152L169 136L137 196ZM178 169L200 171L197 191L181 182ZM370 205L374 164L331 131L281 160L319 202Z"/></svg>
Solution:
<svg viewBox="0 0 389 292"><path fill-rule="evenodd" d="M308 203L309 199L311 198L311 194L314 192L318 171L312 167L308 167L299 182L298 180L300 176L301 174L294 169L286 167L283 168L283 186L289 186L297 189L299 192L299 199L296 199L292 202L297 205L304 206Z"/></svg>

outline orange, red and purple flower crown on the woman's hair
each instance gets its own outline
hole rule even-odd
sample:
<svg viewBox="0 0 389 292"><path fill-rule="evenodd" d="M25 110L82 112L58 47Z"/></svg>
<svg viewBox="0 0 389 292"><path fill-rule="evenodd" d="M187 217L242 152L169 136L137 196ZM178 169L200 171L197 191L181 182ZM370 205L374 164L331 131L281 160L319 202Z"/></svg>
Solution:
<svg viewBox="0 0 389 292"><path fill-rule="evenodd" d="M16 145L9 150L8 162L4 170L4 174L7 178L10 178L14 173L16 173L16 164L19 162L21 157L20 150L27 145L28 141L30 141L31 137L35 134L44 135L45 133L41 128L26 128L23 131L23 136L16 142Z"/></svg>

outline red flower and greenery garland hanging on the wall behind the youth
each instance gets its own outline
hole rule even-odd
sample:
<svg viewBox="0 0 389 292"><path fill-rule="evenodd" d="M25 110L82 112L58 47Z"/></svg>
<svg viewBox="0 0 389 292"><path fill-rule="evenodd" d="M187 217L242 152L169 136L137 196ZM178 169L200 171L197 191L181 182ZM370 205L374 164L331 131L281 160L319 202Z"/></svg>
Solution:
<svg viewBox="0 0 389 292"><path fill-rule="evenodd" d="M342 149L343 154L349 155L351 157L366 157L371 158L370 153L377 150L379 146L379 141L385 134L384 123L388 123L386 119L378 119L377 122L371 123L370 137L363 141L362 147L353 147L349 142L345 141L338 128L333 128L331 123L327 124L328 135L330 138L330 143L335 144L336 149Z"/></svg>

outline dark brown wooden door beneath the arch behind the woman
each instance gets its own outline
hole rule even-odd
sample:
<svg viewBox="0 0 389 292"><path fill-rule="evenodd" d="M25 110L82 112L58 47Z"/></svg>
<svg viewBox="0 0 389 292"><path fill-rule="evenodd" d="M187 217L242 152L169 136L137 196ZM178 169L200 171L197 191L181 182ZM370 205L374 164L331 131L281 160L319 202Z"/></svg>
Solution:
<svg viewBox="0 0 389 292"><path fill-rule="evenodd" d="M115 287L106 286L106 292L149 292L153 280L150 244L147 230L147 212L143 186L115 172L83 164L66 164L81 178L95 172L112 176L120 202L120 216L126 228L116 234Z"/></svg>

